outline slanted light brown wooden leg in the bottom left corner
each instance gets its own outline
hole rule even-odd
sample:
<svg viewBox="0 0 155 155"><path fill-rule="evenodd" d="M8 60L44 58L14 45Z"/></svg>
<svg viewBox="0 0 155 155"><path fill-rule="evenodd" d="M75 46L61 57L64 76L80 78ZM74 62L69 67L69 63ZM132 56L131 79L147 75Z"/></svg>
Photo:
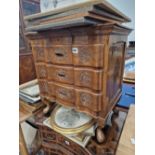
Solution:
<svg viewBox="0 0 155 155"><path fill-rule="evenodd" d="M26 147L23 131L21 128L21 124L19 124L19 147L20 147L21 155L29 155L27 147Z"/></svg>

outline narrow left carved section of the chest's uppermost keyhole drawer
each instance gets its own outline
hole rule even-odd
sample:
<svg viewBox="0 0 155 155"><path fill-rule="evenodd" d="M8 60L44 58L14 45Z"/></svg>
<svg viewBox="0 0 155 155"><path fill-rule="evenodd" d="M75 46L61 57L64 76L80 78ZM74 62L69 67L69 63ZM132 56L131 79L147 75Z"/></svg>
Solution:
<svg viewBox="0 0 155 155"><path fill-rule="evenodd" d="M32 52L33 52L35 62L44 62L45 61L45 53L44 53L43 47L32 46Z"/></svg>

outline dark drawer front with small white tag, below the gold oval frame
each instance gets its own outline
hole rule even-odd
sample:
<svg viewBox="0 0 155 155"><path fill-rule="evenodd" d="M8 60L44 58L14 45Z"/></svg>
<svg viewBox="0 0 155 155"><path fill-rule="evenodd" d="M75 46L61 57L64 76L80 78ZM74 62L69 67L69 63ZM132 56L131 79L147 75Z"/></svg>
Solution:
<svg viewBox="0 0 155 155"><path fill-rule="evenodd" d="M47 155L90 155L88 150L56 133L46 126L40 126L42 148Z"/></svg>

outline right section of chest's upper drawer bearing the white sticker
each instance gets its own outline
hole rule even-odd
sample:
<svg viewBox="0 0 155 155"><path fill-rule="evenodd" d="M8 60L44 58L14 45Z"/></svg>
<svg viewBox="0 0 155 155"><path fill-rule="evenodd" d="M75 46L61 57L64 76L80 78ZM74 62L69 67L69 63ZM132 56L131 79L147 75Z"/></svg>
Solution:
<svg viewBox="0 0 155 155"><path fill-rule="evenodd" d="M103 45L72 46L75 66L103 67Z"/></svg>

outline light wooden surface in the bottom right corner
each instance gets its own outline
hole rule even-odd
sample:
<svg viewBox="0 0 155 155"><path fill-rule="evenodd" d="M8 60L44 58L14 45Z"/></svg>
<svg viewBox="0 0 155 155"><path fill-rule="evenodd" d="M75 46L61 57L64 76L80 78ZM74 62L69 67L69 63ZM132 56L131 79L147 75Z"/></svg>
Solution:
<svg viewBox="0 0 155 155"><path fill-rule="evenodd" d="M118 144L116 155L134 155L135 145L131 139L135 139L135 106L131 105L128 116Z"/></svg>

